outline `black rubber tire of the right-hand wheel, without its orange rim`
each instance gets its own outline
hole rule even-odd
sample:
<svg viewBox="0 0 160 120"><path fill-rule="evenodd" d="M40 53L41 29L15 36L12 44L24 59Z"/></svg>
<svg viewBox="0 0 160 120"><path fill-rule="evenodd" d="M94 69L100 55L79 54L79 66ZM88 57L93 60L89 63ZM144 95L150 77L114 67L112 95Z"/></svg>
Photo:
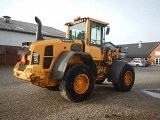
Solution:
<svg viewBox="0 0 160 120"><path fill-rule="evenodd" d="M132 80L129 85L125 85L124 82L124 76L127 71L129 71L132 74ZM135 81L134 69L131 65L126 64L119 75L118 82L112 84L117 91L127 92L133 87L134 81Z"/></svg>

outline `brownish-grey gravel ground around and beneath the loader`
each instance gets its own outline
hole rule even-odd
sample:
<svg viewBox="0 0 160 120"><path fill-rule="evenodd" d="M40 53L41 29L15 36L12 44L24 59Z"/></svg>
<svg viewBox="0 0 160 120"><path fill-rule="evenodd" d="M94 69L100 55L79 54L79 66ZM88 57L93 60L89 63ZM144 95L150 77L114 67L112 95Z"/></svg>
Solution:
<svg viewBox="0 0 160 120"><path fill-rule="evenodd" d="M117 92L105 81L80 103L19 80L12 70L13 66L0 66L0 120L160 120L160 99L144 92L160 89L158 66L135 68L136 81L129 92Z"/></svg>

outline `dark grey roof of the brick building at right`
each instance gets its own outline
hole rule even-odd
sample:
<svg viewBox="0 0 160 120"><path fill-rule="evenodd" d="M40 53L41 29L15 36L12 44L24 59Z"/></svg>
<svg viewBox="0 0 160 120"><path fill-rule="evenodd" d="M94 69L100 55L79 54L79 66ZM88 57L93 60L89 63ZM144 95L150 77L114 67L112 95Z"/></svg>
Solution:
<svg viewBox="0 0 160 120"><path fill-rule="evenodd" d="M150 53L160 44L159 42L134 43L119 45L127 58L148 58Z"/></svg>

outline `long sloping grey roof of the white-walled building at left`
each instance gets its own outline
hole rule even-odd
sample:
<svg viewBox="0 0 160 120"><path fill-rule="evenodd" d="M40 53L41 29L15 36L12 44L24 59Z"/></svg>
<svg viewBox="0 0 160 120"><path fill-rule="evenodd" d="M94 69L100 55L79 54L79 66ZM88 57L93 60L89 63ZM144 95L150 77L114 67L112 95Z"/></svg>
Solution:
<svg viewBox="0 0 160 120"><path fill-rule="evenodd" d="M0 30L27 33L27 34L36 34L37 24L21 22L12 19L10 19L9 21L8 20L5 21L4 18L0 17ZM65 32L47 26L42 26L42 34L48 37L61 37L61 38L65 37Z"/></svg>

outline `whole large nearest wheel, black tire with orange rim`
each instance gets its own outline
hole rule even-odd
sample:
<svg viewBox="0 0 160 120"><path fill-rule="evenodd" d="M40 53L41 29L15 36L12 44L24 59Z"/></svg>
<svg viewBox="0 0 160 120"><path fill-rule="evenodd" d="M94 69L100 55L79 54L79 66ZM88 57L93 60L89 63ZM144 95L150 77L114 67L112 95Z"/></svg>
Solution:
<svg viewBox="0 0 160 120"><path fill-rule="evenodd" d="M94 88L94 76L92 70L81 64L72 65L66 70L62 80L59 82L61 95L73 102L86 100Z"/></svg>

